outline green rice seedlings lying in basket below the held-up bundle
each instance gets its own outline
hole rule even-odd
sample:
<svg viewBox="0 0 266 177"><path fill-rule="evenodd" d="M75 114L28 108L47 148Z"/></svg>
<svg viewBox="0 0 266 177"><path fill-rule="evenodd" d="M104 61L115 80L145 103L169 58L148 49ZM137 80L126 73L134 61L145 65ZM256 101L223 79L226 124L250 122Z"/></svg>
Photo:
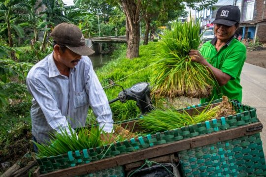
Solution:
<svg viewBox="0 0 266 177"><path fill-rule="evenodd" d="M216 118L219 110L219 105L211 109L207 106L198 115L190 116L187 112L177 112L176 110L170 109L156 109L138 120L138 125L143 127L144 132L163 132L165 130L173 130L175 128L194 125Z"/></svg>

